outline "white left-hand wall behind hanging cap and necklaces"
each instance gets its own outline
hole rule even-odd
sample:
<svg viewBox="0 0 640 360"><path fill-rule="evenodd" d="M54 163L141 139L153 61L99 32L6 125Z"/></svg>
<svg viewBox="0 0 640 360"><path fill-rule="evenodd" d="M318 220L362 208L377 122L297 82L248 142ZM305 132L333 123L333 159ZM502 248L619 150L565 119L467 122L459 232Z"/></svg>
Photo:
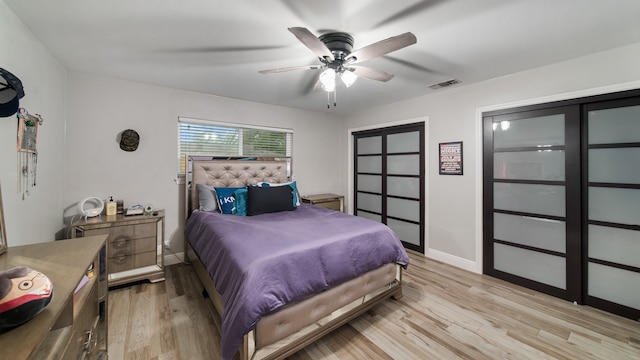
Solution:
<svg viewBox="0 0 640 360"><path fill-rule="evenodd" d="M66 79L62 66L0 1L0 67L24 86L20 106L43 116L36 186L18 193L17 118L0 118L0 184L9 246L52 241L62 230Z"/></svg>

